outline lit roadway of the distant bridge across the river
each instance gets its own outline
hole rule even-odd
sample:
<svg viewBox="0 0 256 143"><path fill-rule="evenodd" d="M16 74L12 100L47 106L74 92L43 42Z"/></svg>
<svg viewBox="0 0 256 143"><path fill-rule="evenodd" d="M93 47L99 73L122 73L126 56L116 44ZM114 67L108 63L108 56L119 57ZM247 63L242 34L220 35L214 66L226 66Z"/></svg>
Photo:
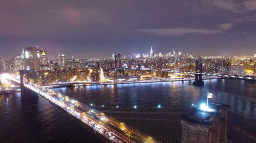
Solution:
<svg viewBox="0 0 256 143"><path fill-rule="evenodd" d="M221 77L229 77L229 78L256 80L256 76L249 76L249 75L236 75L236 74L224 74L224 73L208 73L208 72L190 72L190 71L179 71L179 70L172 70L172 69L150 69L150 68L143 68L141 70L144 70L144 71L177 72L177 73L186 73L186 74L200 74L200 75L208 75L208 76L221 76Z"/></svg>

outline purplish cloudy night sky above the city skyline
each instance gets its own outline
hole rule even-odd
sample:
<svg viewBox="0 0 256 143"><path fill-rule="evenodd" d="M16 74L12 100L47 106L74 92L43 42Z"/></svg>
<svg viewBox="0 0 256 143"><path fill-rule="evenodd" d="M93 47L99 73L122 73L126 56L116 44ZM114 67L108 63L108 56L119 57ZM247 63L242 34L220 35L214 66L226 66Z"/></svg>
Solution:
<svg viewBox="0 0 256 143"><path fill-rule="evenodd" d="M0 1L0 58L38 45L50 58L112 53L252 55L255 0Z"/></svg>

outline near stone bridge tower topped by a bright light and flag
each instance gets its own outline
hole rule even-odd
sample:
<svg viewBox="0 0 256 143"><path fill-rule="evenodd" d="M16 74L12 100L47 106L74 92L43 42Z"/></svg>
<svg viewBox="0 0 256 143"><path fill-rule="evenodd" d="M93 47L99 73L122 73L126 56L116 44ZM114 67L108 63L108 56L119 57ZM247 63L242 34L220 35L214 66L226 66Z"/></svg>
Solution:
<svg viewBox="0 0 256 143"><path fill-rule="evenodd" d="M181 143L226 143L229 105L209 103L215 112L196 109L182 115Z"/></svg>

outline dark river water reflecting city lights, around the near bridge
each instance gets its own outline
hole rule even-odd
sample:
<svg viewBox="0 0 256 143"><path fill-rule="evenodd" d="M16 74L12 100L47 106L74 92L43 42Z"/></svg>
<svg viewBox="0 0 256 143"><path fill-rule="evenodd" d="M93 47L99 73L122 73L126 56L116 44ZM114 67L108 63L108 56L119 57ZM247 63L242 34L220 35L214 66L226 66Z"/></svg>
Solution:
<svg viewBox="0 0 256 143"><path fill-rule="evenodd" d="M84 104L133 108L157 107L156 111L186 111L193 104L210 101L231 106L231 123L256 132L256 82L239 79L205 80L203 87L192 81L94 85L54 89ZM20 93L0 95L0 142L101 142L93 133L44 98L37 99L36 114L20 99ZM153 109L154 110L154 109Z"/></svg>

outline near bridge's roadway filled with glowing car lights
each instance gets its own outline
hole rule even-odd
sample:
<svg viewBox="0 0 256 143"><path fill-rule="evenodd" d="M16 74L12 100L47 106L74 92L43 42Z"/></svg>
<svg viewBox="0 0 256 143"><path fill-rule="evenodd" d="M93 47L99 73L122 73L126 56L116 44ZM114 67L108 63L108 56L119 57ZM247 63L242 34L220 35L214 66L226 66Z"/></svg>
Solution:
<svg viewBox="0 0 256 143"><path fill-rule="evenodd" d="M12 76L9 76L8 79L20 83L18 79ZM37 84L30 83L24 84L24 86L66 111L71 117L78 120L83 125L90 127L98 136L101 135L104 139L108 139L105 140L106 142L160 142L68 96L63 96L45 87L41 88L40 85Z"/></svg>

